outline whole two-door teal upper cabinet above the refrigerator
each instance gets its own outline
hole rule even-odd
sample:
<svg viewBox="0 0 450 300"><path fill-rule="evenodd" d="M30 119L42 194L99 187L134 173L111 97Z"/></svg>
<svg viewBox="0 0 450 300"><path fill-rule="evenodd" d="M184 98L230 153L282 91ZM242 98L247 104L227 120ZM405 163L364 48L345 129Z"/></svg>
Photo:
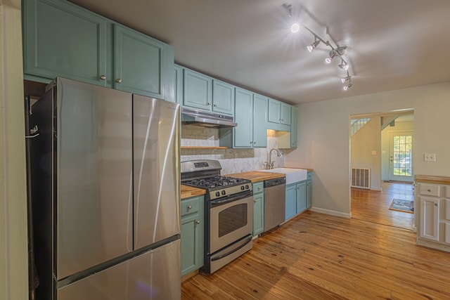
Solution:
<svg viewBox="0 0 450 300"><path fill-rule="evenodd" d="M174 98L174 51L161 41L65 0L23 0L25 79L67 77Z"/></svg>

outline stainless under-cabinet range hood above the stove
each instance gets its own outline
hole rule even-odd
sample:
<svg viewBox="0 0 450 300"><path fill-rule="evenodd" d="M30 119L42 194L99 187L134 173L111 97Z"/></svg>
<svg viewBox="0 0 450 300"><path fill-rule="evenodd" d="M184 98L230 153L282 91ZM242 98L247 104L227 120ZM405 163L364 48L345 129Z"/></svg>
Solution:
<svg viewBox="0 0 450 300"><path fill-rule="evenodd" d="M221 115L217 112L205 112L181 107L181 122L183 124L197 125L212 128L224 128L238 126L232 116Z"/></svg>

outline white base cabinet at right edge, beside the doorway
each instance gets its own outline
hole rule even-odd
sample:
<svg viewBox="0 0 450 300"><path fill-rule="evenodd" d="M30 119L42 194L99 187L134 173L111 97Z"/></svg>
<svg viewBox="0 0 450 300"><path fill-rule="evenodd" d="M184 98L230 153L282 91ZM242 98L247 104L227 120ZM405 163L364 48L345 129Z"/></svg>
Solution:
<svg viewBox="0 0 450 300"><path fill-rule="evenodd" d="M417 243L450 252L450 178L416 182Z"/></svg>

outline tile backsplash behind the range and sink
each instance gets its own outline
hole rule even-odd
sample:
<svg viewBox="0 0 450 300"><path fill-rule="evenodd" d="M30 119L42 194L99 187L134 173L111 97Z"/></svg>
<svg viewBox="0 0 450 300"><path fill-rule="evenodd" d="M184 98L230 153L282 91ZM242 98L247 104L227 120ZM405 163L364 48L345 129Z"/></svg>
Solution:
<svg viewBox="0 0 450 300"><path fill-rule="evenodd" d="M183 125L181 126L181 146L219 146L219 129ZM250 149L181 149L181 162L192 159L214 159L221 164L221 174L233 174L265 169L271 148L278 148L275 131L267 131L267 148ZM281 150L283 152L283 150ZM284 156L277 157L272 152L275 167L284 167Z"/></svg>

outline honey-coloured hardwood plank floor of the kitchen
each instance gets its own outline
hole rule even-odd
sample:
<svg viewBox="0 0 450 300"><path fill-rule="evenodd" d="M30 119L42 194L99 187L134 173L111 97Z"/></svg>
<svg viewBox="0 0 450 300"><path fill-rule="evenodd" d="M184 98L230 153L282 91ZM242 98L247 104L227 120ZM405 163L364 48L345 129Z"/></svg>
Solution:
<svg viewBox="0 0 450 300"><path fill-rule="evenodd" d="M415 233L385 216L364 221L360 210L360 219L307 211L213 275L184 282L182 299L450 299L449 253L416 246Z"/></svg>

